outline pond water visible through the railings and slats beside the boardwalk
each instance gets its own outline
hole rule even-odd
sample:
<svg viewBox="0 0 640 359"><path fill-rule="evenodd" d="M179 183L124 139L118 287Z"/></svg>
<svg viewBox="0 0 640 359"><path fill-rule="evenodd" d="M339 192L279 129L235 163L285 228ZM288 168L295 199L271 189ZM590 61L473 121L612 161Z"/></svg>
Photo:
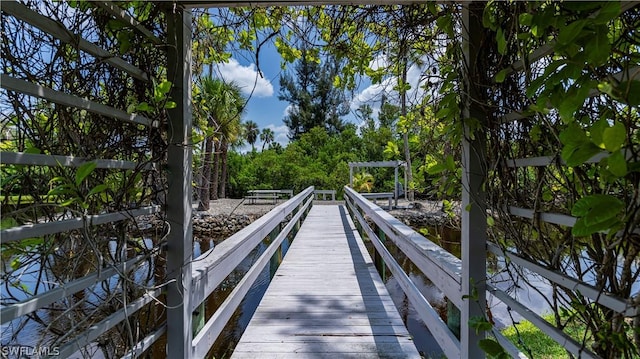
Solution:
<svg viewBox="0 0 640 359"><path fill-rule="evenodd" d="M458 230L440 227L429 228L428 232L429 239L443 246L452 254L458 257L460 256L460 232ZM201 255L201 253L204 253L208 249L212 248L214 246L214 242L217 241L218 239L214 240L212 238L194 241L194 258L197 258ZM291 238L286 239L283 242L283 255L289 248L290 241ZM242 279L244 274L249 270L253 263L260 257L262 253L264 253L264 251L268 247L268 244L268 239L260 243L258 247L249 254L249 256L238 266L238 268L236 268L225 279L220 287L209 297L205 307L205 315L207 318L210 317L211 314L216 310L216 308L218 308L227 298L229 293ZM365 241L365 244L367 245L370 253L372 253L373 246L371 245L371 243L369 241ZM394 255L397 261L401 264L405 272L409 274L409 277L413 280L418 289L422 292L425 298L429 300L431 305L440 313L443 320L446 321L447 303L446 298L444 297L442 292L440 292L433 285L433 283L431 283L431 281L429 281L409 260L406 260L404 255L399 250L397 250L394 246L389 247L392 255ZM271 280L272 273L277 268L278 263L279 260L277 258L272 260L271 265L266 266L266 268L260 273L260 276L249 290L249 293L242 301L236 312L233 314L229 323L224 328L220 337L212 347L211 351L209 352L210 356L218 359L228 358L230 356L233 348L242 336L242 332L247 327L262 296L264 295ZM4 264L6 266L9 265L8 262L5 262ZM145 265L148 266L148 264ZM499 271L499 269L502 267L503 263L493 263L491 268L494 271L493 281L498 287L507 289L507 287L510 286L510 283L506 280L506 273ZM144 273L148 273L149 270L153 271L152 268L140 268L137 271L137 274L140 273L140 278L138 279L144 280L142 277L144 276ZM35 288L35 283L37 281L35 273L37 272L38 268L28 268L25 271L26 274L21 278L22 283L24 283L28 288ZM400 315L405 321L405 324L407 325L410 333L413 335L418 350L427 358L442 358L443 353L441 349L433 339L427 327L419 319L419 316L413 306L408 302L396 279L391 275L391 273L387 272L386 274L387 289L389 290L394 303L398 307ZM522 285L515 292L512 292L512 295L518 298L521 302L525 303L531 310L538 314L549 312L550 307L546 302L546 298L550 298L552 294L552 288L549 283L543 278L531 274L530 272L525 271L524 275L527 277L527 281L533 287ZM636 287L637 288L635 288L634 290L640 290L640 283L638 283ZM0 295L4 294L4 290L4 288L0 288ZM515 320L520 319L515 313L510 313L505 305L499 304L497 300L491 297L488 298L488 305L491 308L493 319L495 320L498 327L510 325L512 323L512 317ZM43 315L43 317L48 316L46 310L41 310L39 312ZM2 325L2 343L8 343L11 341L11 332L19 325L19 319ZM40 325L36 324L33 321L28 321L26 327L22 328L20 332L19 342L21 344L29 345L40 340L41 336L42 328L40 327ZM163 358L165 356L163 350L165 343L166 340L164 338L157 343L156 349L153 350L154 357Z"/></svg>

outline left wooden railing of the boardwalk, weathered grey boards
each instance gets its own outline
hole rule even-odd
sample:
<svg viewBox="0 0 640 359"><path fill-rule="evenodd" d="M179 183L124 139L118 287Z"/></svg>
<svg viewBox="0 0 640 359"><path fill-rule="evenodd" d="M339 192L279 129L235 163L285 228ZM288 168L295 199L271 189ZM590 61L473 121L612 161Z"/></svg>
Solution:
<svg viewBox="0 0 640 359"><path fill-rule="evenodd" d="M266 215L227 238L198 257L192 266L191 310L198 311L207 297L265 238L271 237L269 247L236 284L227 299L218 307L193 339L193 358L204 358L232 314L258 278L285 238L297 230L313 202L313 187L309 187L277 206ZM281 223L292 216L284 228ZM202 312L200 310L200 312Z"/></svg>

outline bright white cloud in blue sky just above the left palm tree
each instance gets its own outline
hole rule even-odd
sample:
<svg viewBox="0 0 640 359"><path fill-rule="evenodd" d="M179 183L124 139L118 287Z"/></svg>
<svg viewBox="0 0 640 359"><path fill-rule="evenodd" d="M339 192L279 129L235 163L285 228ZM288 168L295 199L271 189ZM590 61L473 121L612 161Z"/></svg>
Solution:
<svg viewBox="0 0 640 359"><path fill-rule="evenodd" d="M223 80L227 82L233 81L238 84L245 95L256 97L273 96L271 82L258 74L255 64L242 66L237 60L230 59L227 63L218 64L217 68Z"/></svg>

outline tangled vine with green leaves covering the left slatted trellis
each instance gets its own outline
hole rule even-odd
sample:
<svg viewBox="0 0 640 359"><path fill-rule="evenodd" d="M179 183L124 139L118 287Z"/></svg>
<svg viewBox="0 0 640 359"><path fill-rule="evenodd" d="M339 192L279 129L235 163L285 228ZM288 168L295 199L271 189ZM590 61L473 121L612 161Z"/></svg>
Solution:
<svg viewBox="0 0 640 359"><path fill-rule="evenodd" d="M140 298L164 281L162 245L167 228L162 217L148 218L157 232L144 232L133 217L93 225L91 216L162 205L166 159L166 109L176 106L168 94L166 49L87 1L22 2L29 9L63 24L70 33L89 39L120 56L151 79L132 78L103 58L64 43L2 13L0 42L3 74L73 94L153 119L155 126L123 124L90 111L6 91L0 98L3 152L62 155L87 159L77 167L2 164L2 229L81 218L76 230L4 242L1 304L9 306L101 272L115 263L140 256L138 269L98 282L45 308L3 325L2 345L61 347ZM157 4L120 2L131 16L160 39L164 9ZM136 163L133 169L106 169L94 159ZM157 222L154 222L157 221ZM93 357L122 356L160 325L163 307L147 306L79 353ZM27 340L27 341L25 341ZM28 340L33 340L28 342Z"/></svg>

